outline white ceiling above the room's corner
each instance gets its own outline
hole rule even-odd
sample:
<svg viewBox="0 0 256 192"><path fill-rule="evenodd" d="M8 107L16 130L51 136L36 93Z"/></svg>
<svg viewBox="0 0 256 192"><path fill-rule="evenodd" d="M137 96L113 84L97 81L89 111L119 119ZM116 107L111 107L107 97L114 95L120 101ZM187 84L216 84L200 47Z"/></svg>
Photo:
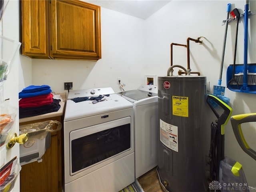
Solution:
<svg viewBox="0 0 256 192"><path fill-rule="evenodd" d="M84 0L110 10L121 12L130 16L146 19L170 0Z"/></svg>

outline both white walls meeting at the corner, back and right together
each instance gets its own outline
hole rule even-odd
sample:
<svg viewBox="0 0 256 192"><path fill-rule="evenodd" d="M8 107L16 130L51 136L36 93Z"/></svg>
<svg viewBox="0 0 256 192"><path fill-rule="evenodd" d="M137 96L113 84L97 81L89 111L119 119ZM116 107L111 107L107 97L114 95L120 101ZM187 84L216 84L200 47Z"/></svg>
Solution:
<svg viewBox="0 0 256 192"><path fill-rule="evenodd" d="M190 42L190 68L207 76L210 87L218 83L226 19L226 5L242 13L244 1L172 1L147 20L141 20L108 9L101 9L102 59L98 62L27 59L22 62L25 85L48 84L54 92L64 92L64 82L74 89L112 87L125 90L144 84L145 74L165 76L170 66L170 44L186 44L186 39L202 38L203 44ZM256 1L250 0L250 10ZM248 63L256 62L256 15L249 19ZM236 22L230 23L222 86L226 86L226 69L233 64ZM243 21L240 21L236 63L243 63ZM174 64L187 65L186 48L174 46ZM30 63L31 62L31 63ZM31 76L27 73L30 71ZM27 73L25 75L25 73ZM234 114L256 112L255 94L232 92L226 88ZM215 119L213 119L215 121ZM209 127L210 129L210 122ZM256 150L256 126L250 126L248 144ZM256 161L238 145L230 122L225 127L225 154L243 165L248 184L256 188Z"/></svg>

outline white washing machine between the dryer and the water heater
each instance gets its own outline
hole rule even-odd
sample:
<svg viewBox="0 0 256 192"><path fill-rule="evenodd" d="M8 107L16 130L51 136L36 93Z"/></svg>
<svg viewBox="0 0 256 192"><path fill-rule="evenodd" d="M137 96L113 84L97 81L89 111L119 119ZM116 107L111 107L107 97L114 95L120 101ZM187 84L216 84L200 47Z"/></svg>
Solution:
<svg viewBox="0 0 256 192"><path fill-rule="evenodd" d="M158 88L142 85L136 90L119 92L133 104L135 177L158 165Z"/></svg>

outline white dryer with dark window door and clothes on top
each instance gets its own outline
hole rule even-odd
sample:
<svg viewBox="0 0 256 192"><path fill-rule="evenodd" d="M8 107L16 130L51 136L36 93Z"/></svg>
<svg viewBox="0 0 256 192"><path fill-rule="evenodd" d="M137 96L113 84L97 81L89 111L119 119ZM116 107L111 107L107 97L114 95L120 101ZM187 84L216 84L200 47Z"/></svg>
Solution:
<svg viewBox="0 0 256 192"><path fill-rule="evenodd" d="M133 105L112 88L70 90L64 191L120 191L134 182Z"/></svg>

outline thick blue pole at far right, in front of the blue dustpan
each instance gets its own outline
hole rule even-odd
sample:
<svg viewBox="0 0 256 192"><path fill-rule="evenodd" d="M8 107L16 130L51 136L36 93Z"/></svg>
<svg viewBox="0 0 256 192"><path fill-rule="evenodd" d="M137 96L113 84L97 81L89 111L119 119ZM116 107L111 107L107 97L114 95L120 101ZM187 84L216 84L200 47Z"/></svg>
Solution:
<svg viewBox="0 0 256 192"><path fill-rule="evenodd" d="M247 82L248 12L249 12L249 0L246 0L244 5L244 76L243 76L243 87L242 87L243 90L248 89L248 82Z"/></svg>

